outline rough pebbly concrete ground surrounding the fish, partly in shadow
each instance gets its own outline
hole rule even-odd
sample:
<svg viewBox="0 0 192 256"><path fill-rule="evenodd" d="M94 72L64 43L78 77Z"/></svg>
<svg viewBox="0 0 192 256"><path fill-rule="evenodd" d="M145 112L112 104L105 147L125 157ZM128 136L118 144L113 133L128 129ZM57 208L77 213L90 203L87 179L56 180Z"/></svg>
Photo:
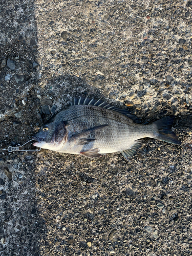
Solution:
<svg viewBox="0 0 192 256"><path fill-rule="evenodd" d="M2 256L191 255L191 8L1 0L1 148L87 94L143 123L175 115L183 142L143 139L131 162L1 151Z"/></svg>

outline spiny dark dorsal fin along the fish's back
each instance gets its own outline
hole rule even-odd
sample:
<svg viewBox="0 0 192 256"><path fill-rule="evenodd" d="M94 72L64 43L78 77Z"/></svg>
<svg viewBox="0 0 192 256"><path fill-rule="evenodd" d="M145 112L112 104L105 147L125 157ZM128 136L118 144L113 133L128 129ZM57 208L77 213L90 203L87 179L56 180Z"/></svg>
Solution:
<svg viewBox="0 0 192 256"><path fill-rule="evenodd" d="M116 106L112 106L109 103L104 102L104 101L102 101L100 99L99 100L95 100L94 98L90 99L88 97L87 98L83 98L83 97L74 98L74 100L71 101L71 105L72 106L74 106L74 105L100 106L100 108L103 108L103 109L113 110L113 111L119 112L119 113L129 117L130 119L132 119L135 123L141 123L141 121L136 116L132 115L129 111L123 110L123 109L119 109Z"/></svg>

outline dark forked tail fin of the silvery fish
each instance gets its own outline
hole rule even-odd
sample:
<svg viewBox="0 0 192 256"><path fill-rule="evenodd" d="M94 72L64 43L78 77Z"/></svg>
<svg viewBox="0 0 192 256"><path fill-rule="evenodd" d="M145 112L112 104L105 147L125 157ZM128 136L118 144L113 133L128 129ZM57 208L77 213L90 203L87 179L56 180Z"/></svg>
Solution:
<svg viewBox="0 0 192 256"><path fill-rule="evenodd" d="M170 129L172 128L175 117L167 116L158 121L153 122L157 125L158 134L156 139L163 140L173 144L181 144L181 141L178 140L176 134Z"/></svg>

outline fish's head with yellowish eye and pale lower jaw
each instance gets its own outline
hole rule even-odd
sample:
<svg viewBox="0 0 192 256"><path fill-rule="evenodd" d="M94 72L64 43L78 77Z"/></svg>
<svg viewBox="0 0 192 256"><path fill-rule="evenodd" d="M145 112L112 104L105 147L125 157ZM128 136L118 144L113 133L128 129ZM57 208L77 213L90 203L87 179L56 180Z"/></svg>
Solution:
<svg viewBox="0 0 192 256"><path fill-rule="evenodd" d="M67 142L67 125L63 121L47 121L32 137L34 146L58 151Z"/></svg>

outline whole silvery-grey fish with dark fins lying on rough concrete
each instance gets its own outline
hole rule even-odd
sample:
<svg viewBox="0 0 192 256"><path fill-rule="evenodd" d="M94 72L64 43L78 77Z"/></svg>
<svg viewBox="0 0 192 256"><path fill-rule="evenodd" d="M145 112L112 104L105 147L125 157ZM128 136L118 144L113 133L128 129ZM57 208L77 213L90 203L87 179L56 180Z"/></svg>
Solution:
<svg viewBox="0 0 192 256"><path fill-rule="evenodd" d="M32 137L34 146L89 158L121 152L129 160L142 138L181 144L171 130L174 116L141 124L129 111L101 100L74 98L69 108L56 112Z"/></svg>

